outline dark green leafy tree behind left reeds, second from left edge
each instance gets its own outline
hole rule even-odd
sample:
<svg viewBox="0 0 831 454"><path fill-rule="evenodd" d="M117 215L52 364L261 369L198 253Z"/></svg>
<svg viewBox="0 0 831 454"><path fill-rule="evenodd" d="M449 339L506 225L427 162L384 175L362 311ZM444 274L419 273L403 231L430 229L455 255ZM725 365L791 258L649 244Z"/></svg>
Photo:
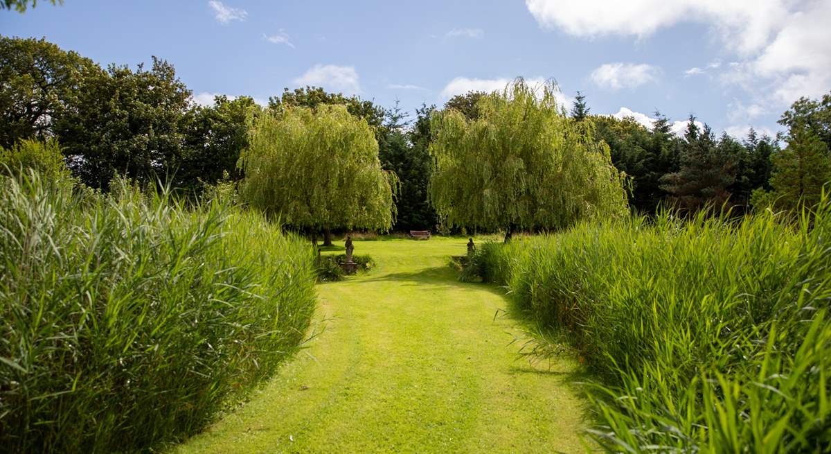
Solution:
<svg viewBox="0 0 831 454"><path fill-rule="evenodd" d="M106 190L120 173L142 183L167 180L184 145L190 91L170 63L111 66L81 80L76 99L55 121L70 168L91 187Z"/></svg>

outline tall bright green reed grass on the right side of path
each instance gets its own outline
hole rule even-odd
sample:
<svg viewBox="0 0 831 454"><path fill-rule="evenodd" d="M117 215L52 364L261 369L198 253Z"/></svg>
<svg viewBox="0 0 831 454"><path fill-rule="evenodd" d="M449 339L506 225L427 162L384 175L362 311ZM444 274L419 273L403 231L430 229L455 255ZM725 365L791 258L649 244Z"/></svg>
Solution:
<svg viewBox="0 0 831 454"><path fill-rule="evenodd" d="M792 222L579 225L487 244L484 277L565 333L609 452L831 450L831 200Z"/></svg>

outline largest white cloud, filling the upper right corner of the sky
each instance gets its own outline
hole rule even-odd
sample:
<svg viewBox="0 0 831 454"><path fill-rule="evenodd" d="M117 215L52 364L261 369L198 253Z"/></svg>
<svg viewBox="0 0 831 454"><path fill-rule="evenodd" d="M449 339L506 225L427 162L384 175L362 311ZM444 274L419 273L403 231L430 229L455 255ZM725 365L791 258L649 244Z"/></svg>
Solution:
<svg viewBox="0 0 831 454"><path fill-rule="evenodd" d="M777 106L831 87L831 2L828 0L593 0L563 7L558 0L526 0L541 27L578 37L644 38L681 22L709 26L731 62L719 80L765 96ZM715 60L706 69L716 70Z"/></svg>

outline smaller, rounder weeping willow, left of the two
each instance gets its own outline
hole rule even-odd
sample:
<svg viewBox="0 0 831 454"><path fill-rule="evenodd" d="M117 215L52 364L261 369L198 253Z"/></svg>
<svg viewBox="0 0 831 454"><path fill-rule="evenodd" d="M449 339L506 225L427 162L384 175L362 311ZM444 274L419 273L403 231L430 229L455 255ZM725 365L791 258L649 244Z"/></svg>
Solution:
<svg viewBox="0 0 831 454"><path fill-rule="evenodd" d="M253 119L239 167L249 205L312 234L390 228L396 175L381 169L366 120L344 106L289 107Z"/></svg>

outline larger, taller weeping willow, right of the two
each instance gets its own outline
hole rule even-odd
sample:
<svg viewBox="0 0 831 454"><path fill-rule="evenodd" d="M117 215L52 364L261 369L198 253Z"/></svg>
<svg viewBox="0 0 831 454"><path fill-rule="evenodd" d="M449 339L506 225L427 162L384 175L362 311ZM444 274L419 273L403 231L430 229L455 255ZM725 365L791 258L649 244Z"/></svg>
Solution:
<svg viewBox="0 0 831 454"><path fill-rule="evenodd" d="M565 115L553 83L517 79L482 96L479 117L436 112L430 202L451 226L505 231L562 229L627 214L624 177L590 122Z"/></svg>

